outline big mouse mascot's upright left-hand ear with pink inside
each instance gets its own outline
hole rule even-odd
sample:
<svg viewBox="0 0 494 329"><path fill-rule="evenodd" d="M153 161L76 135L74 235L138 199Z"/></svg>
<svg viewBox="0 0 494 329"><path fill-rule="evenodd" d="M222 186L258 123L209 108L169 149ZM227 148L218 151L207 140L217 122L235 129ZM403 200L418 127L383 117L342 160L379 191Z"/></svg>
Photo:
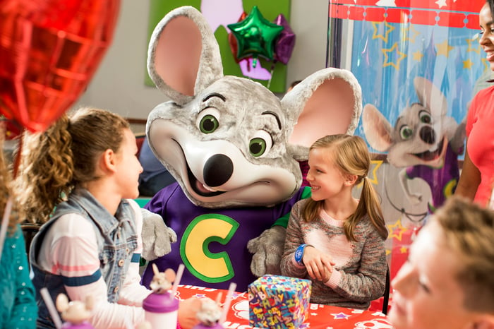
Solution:
<svg viewBox="0 0 494 329"><path fill-rule="evenodd" d="M176 8L156 25L147 50L147 71L157 88L181 105L222 78L218 43L197 9Z"/></svg>

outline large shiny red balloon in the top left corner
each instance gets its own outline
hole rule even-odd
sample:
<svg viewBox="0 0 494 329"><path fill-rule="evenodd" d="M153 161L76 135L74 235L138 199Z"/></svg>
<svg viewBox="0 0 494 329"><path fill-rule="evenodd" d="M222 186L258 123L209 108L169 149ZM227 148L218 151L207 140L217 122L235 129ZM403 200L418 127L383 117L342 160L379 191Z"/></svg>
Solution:
<svg viewBox="0 0 494 329"><path fill-rule="evenodd" d="M85 90L120 0L0 0L0 112L44 131Z"/></svg>

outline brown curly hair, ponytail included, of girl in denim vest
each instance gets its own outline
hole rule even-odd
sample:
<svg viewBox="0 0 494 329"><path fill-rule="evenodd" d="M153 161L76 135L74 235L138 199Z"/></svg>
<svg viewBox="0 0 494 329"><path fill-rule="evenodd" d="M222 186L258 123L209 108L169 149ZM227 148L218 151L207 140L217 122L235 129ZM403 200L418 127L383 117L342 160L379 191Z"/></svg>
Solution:
<svg viewBox="0 0 494 329"><path fill-rule="evenodd" d="M44 133L25 133L16 189L26 218L47 222L74 187L98 179L97 158L119 151L124 128L129 124L118 114L83 107Z"/></svg>

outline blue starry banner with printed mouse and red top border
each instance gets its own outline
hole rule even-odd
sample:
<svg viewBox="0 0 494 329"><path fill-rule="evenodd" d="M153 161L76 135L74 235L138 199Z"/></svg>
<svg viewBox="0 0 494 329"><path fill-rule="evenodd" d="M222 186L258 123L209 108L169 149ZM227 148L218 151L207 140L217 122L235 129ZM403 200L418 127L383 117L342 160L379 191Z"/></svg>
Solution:
<svg viewBox="0 0 494 329"><path fill-rule="evenodd" d="M349 69L362 87L355 133L374 156L392 277L457 185L469 102L490 78L478 43L484 3L329 1L328 66Z"/></svg>

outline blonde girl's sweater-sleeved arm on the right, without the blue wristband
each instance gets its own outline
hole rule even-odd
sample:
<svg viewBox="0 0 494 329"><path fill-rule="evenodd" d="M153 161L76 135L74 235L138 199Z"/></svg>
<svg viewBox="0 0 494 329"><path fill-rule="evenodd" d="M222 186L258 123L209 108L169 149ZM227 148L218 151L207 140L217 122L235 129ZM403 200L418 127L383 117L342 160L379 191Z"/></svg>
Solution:
<svg viewBox="0 0 494 329"><path fill-rule="evenodd" d="M384 241L373 228L359 238L365 239L359 269L356 273L334 270L325 285L346 299L367 302L378 299L384 293L387 270L386 251Z"/></svg>

